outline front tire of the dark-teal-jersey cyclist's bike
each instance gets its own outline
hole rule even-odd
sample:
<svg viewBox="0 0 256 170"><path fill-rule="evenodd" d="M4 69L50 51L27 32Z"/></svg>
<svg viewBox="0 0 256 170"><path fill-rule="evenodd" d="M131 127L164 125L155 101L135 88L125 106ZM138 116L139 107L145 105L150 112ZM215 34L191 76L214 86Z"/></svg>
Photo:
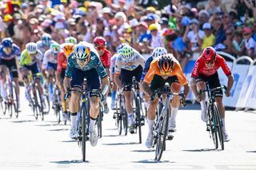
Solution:
<svg viewBox="0 0 256 170"><path fill-rule="evenodd" d="M86 109L81 109L82 113L82 161L86 161Z"/></svg>

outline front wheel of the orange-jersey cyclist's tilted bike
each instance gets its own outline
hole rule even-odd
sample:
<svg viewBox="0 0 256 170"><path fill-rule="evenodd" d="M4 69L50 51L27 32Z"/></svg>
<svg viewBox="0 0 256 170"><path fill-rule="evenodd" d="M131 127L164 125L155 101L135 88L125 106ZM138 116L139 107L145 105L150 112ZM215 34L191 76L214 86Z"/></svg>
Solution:
<svg viewBox="0 0 256 170"><path fill-rule="evenodd" d="M169 109L164 108L162 109L162 112L166 112L164 114L161 113L161 115L164 115L164 117L160 117L161 122L159 122L159 127L158 127L158 139L157 139L157 144L156 144L156 149L155 149L155 160L161 160L162 157L162 152L166 148L166 135L168 132L168 120L169 120Z"/></svg>

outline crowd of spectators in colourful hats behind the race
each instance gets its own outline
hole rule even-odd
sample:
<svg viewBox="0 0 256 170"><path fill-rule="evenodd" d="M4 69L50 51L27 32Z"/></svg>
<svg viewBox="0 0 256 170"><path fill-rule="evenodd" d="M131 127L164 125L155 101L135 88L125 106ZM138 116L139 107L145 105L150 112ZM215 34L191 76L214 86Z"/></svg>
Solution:
<svg viewBox="0 0 256 170"><path fill-rule="evenodd" d="M208 45L234 57L256 58L256 1L234 0L228 10L222 0L190 2L170 0L161 9L154 0L5 0L0 40L13 38L24 49L43 33L60 44L68 36L78 42L102 36L112 53L122 42L146 54L164 46L182 68Z"/></svg>

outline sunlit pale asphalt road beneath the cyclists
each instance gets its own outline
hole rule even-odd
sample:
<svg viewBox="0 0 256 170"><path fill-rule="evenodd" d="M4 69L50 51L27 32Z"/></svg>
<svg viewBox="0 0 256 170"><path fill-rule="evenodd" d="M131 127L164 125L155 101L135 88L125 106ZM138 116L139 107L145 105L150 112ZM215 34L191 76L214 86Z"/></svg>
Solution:
<svg viewBox="0 0 256 170"><path fill-rule="evenodd" d="M96 147L86 143L86 163L81 148L69 138L69 125L58 125L53 113L35 121L22 95L22 113L10 119L0 113L0 169L256 169L256 114L226 112L230 142L214 150L213 141L200 119L200 111L178 111L174 140L167 141L162 160L142 144L137 134L118 136L112 118L104 116L103 136ZM198 106L197 106L198 107Z"/></svg>

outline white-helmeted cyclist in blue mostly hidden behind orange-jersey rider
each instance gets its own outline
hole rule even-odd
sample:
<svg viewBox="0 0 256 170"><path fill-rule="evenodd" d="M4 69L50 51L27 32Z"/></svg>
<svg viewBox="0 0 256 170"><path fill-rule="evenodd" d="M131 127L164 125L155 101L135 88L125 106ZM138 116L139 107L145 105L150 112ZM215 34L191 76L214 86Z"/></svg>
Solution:
<svg viewBox="0 0 256 170"><path fill-rule="evenodd" d="M143 69L143 72L142 72L141 82L144 80L144 77L146 76L146 73L150 69L150 64L154 60L154 58L162 56L163 54L167 54L167 50L165 48L163 48L163 47L154 48L151 56L145 62L145 68ZM144 97L144 101L145 101L144 106L145 106L146 109L148 109L149 102L150 102L150 97L146 96L145 93L144 93L143 97Z"/></svg>

